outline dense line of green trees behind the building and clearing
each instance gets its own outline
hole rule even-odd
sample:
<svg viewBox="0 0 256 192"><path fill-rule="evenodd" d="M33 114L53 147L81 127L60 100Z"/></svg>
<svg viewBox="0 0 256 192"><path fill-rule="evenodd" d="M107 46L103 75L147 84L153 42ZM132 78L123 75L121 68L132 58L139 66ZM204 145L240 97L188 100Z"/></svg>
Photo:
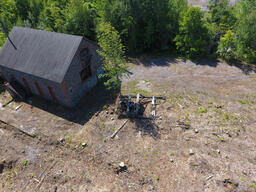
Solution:
<svg viewBox="0 0 256 192"><path fill-rule="evenodd" d="M0 21L8 31L17 25L82 35L122 50L121 60L164 51L256 63L256 0L210 0L206 12L187 0L1 0ZM5 39L0 29L0 47Z"/></svg>

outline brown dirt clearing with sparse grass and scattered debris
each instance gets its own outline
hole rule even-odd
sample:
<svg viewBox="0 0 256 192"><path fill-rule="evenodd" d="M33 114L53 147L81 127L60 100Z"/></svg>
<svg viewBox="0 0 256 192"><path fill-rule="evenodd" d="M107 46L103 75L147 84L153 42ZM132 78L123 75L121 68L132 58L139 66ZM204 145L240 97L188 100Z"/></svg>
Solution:
<svg viewBox="0 0 256 192"><path fill-rule="evenodd" d="M101 85L73 110L38 98L5 106L0 90L0 191L256 191L255 70L173 59L130 67L123 94L167 99L157 100L161 118L130 119L114 139L126 119Z"/></svg>

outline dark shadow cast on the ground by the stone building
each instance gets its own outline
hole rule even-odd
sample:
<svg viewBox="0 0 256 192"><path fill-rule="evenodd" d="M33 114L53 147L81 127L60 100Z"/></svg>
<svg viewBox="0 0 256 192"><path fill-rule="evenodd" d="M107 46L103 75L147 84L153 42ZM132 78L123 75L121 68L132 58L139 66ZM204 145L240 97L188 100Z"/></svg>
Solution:
<svg viewBox="0 0 256 192"><path fill-rule="evenodd" d="M117 93L106 90L103 83L99 83L74 108L66 108L38 97L32 98L31 107L42 109L73 123L84 125L94 114L113 104L118 96Z"/></svg>

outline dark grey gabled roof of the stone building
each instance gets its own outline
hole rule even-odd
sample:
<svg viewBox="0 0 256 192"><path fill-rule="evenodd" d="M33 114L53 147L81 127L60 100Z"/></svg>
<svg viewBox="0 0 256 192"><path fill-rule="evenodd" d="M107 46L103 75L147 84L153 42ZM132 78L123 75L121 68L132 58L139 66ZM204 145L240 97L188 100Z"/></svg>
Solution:
<svg viewBox="0 0 256 192"><path fill-rule="evenodd" d="M0 50L0 66L61 83L83 39L80 36L14 27Z"/></svg>

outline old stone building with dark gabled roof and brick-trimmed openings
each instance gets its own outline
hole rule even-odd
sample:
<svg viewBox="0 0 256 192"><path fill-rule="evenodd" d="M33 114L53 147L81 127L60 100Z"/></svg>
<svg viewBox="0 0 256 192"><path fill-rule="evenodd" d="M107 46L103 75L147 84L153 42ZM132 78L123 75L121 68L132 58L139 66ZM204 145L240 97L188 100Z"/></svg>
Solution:
<svg viewBox="0 0 256 192"><path fill-rule="evenodd" d="M0 71L27 92L73 107L103 72L99 46L81 36L14 27L0 50ZM15 87L14 87L15 89Z"/></svg>

